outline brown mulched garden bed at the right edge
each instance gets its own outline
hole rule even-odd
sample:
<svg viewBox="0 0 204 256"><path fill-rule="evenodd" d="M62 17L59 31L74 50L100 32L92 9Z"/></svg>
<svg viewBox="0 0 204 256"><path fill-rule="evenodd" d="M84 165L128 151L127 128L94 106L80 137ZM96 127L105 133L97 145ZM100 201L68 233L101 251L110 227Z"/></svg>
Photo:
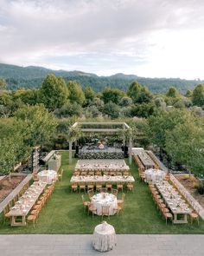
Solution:
<svg viewBox="0 0 204 256"><path fill-rule="evenodd" d="M182 183L182 186L185 187L188 192L194 197L194 200L197 200L201 207L204 207L204 194L199 194L197 189L194 187L194 184L197 184L199 181L191 175L181 174L175 175L175 178Z"/></svg>

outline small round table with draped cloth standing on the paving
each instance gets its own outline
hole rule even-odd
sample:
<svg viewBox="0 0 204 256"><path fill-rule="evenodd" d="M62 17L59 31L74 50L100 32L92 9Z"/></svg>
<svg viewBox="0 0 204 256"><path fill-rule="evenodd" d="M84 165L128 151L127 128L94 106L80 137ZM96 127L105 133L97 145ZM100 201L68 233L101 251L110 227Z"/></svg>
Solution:
<svg viewBox="0 0 204 256"><path fill-rule="evenodd" d="M112 225L103 221L102 224L95 226L92 246L99 252L107 252L116 246L116 233Z"/></svg>

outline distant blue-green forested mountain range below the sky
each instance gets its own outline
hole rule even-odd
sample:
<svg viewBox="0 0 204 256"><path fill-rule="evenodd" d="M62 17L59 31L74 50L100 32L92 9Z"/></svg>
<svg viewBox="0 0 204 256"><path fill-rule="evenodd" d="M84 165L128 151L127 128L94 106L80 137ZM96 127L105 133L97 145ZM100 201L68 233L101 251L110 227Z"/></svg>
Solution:
<svg viewBox="0 0 204 256"><path fill-rule="evenodd" d="M146 78L137 75L124 75L122 73L111 76L99 76L81 71L52 70L35 66L24 68L0 63L0 77L6 80L8 89L39 88L45 76L50 73L63 77L67 82L70 80L80 82L83 88L90 85L95 91L99 91L105 88L105 86L111 86L112 88L126 91L131 82L138 81L149 88L153 93L164 93L171 86L175 86L175 88L179 89L182 93L185 93L188 89L194 89L194 86L198 83L203 83L203 81L197 80Z"/></svg>

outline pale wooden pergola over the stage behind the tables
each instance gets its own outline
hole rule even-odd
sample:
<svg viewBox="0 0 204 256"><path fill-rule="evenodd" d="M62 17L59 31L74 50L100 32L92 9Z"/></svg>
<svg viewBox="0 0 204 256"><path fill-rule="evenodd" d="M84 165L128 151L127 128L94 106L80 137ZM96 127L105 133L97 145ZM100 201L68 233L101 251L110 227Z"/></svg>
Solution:
<svg viewBox="0 0 204 256"><path fill-rule="evenodd" d="M94 127L95 128L92 128ZM113 127L113 128L112 128ZM117 127L117 128L115 128ZM132 135L131 128L126 122L114 122L114 121L77 121L73 124L71 128L80 128L82 133L104 133L104 134L114 134L118 133L118 131L123 129L123 144L125 144L125 134L129 135L129 163L132 162ZM72 163L72 145L76 139L69 140L69 163Z"/></svg>

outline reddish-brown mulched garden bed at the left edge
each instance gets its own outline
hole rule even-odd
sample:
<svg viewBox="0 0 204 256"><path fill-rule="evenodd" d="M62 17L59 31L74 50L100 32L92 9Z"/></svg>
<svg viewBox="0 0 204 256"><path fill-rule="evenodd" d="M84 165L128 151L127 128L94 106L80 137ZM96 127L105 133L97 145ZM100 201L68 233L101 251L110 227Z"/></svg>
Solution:
<svg viewBox="0 0 204 256"><path fill-rule="evenodd" d="M25 174L11 174L10 176L3 177L0 181L0 202L16 188L26 176Z"/></svg>

